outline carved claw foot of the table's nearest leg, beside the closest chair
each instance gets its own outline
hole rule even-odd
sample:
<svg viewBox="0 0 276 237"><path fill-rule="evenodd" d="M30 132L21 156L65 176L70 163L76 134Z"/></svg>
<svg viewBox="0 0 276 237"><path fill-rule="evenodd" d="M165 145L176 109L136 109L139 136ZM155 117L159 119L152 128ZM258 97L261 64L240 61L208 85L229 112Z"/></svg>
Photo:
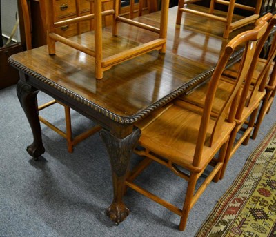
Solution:
<svg viewBox="0 0 276 237"><path fill-rule="evenodd" d="M109 218L115 222L115 225L119 225L119 223L124 221L129 213L130 211L128 207L126 207L124 204L112 204L108 209L106 209L106 216L109 216Z"/></svg>

